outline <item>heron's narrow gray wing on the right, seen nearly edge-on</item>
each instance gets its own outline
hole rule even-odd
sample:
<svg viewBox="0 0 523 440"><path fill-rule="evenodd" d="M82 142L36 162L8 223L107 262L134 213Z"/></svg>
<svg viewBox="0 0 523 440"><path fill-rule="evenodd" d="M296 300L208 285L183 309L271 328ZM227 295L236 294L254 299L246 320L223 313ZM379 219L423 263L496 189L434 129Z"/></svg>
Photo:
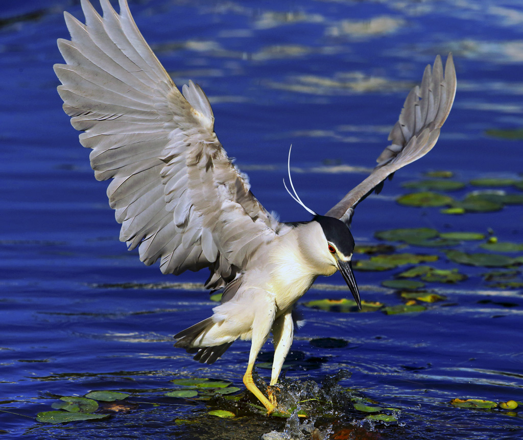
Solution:
<svg viewBox="0 0 523 440"><path fill-rule="evenodd" d="M447 116L456 94L456 70L449 53L445 76L438 55L432 70L425 68L421 86L414 87L403 105L399 121L389 134L392 145L378 157L378 165L370 176L333 206L325 215L342 219L350 224L356 205L374 189L381 189L383 181L392 173L427 154L436 144L441 125Z"/></svg>

